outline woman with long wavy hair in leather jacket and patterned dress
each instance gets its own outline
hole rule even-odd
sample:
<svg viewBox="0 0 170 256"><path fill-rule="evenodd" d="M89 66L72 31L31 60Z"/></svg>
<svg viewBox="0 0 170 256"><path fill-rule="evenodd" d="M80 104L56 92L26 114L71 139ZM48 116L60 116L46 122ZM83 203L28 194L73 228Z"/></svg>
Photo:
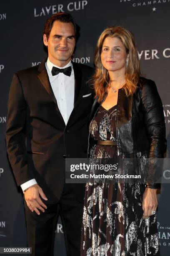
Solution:
<svg viewBox="0 0 170 256"><path fill-rule="evenodd" d="M145 183L86 184L81 256L159 255L156 181L161 174L155 166L166 151L160 96L155 82L141 77L133 34L126 28L102 32L95 66L90 159L149 161Z"/></svg>

